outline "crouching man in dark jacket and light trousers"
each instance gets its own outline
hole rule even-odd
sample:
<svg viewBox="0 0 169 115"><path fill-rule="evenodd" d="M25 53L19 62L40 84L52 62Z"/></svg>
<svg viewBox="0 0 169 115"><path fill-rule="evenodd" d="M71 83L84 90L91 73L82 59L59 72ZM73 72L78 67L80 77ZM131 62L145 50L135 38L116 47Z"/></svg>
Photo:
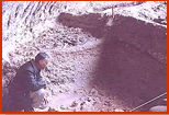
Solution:
<svg viewBox="0 0 169 115"><path fill-rule="evenodd" d="M43 102L47 92L40 72L48 62L49 56L46 53L38 53L35 59L20 67L9 90L13 110L32 112Z"/></svg>

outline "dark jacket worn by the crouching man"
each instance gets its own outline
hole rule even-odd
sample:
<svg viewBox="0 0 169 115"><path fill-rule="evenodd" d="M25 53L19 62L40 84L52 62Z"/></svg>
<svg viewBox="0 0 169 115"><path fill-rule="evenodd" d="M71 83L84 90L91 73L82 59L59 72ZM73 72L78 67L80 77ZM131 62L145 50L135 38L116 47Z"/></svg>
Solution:
<svg viewBox="0 0 169 115"><path fill-rule="evenodd" d="M32 107L30 91L34 92L46 88L40 72L41 70L36 68L34 60L27 61L18 70L10 85L9 93L13 97L13 104L18 106L19 110Z"/></svg>

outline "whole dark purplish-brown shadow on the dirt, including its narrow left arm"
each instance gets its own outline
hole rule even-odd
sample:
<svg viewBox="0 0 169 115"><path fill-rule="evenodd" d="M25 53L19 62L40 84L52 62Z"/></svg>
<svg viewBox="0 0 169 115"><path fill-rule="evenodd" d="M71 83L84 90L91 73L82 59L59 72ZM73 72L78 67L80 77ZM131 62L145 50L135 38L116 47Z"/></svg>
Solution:
<svg viewBox="0 0 169 115"><path fill-rule="evenodd" d="M167 30L122 15L115 15L109 28L108 20L100 14L61 13L58 18L66 26L80 27L94 37L104 38L91 84L131 107L166 92Z"/></svg>

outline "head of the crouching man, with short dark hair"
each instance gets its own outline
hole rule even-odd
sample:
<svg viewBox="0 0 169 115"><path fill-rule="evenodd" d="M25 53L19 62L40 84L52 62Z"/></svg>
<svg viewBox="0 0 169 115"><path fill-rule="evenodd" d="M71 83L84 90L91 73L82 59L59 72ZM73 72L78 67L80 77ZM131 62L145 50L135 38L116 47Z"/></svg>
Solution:
<svg viewBox="0 0 169 115"><path fill-rule="evenodd" d="M46 53L41 51L36 55L35 64L38 69L44 69L48 62L49 62L49 56Z"/></svg>

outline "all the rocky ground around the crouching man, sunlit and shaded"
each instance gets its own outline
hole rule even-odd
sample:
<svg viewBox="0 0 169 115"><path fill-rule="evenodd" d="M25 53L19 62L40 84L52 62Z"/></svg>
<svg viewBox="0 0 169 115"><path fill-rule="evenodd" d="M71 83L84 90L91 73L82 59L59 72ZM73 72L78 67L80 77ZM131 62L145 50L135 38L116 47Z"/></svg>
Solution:
<svg viewBox="0 0 169 115"><path fill-rule="evenodd" d="M128 112L167 91L167 2L3 1L3 111L9 82L40 50L52 57L49 95L35 111Z"/></svg>

